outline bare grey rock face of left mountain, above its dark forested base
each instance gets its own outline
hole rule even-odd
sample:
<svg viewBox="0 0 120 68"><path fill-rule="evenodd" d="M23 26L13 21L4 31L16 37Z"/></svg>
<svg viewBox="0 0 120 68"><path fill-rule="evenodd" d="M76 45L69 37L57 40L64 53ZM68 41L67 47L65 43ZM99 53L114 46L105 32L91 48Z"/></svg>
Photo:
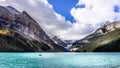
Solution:
<svg viewBox="0 0 120 68"><path fill-rule="evenodd" d="M10 23L14 32L29 40L37 40L50 47L49 51L63 51L64 48L56 45L42 30L40 25L25 11L20 13L15 8L0 6L0 18ZM7 24L8 24L7 23ZM12 26L11 26L12 25ZM8 26L8 25L7 25ZM41 49L39 49L41 50Z"/></svg>

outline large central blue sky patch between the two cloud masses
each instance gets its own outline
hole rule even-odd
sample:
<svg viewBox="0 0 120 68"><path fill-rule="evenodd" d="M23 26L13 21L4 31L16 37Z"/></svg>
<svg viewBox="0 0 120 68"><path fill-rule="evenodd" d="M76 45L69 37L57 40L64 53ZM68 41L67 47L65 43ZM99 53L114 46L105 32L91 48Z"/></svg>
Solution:
<svg viewBox="0 0 120 68"><path fill-rule="evenodd" d="M70 14L70 10L76 6L78 0L48 0L48 2L53 5L53 8L57 13L65 16L66 20L75 22Z"/></svg>

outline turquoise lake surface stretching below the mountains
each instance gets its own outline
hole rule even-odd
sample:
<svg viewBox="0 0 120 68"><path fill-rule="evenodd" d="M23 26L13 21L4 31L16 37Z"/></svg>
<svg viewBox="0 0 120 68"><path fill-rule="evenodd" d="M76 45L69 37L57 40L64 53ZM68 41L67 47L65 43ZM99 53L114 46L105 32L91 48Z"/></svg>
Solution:
<svg viewBox="0 0 120 68"><path fill-rule="evenodd" d="M0 53L0 68L120 68L120 53Z"/></svg>

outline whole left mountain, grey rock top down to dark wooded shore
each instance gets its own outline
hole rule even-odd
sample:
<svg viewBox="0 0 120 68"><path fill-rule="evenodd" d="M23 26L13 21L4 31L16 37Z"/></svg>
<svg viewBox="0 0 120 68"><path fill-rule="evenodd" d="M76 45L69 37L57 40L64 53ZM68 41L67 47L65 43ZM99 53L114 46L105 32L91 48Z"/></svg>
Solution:
<svg viewBox="0 0 120 68"><path fill-rule="evenodd" d="M0 6L0 51L65 51L25 11Z"/></svg>

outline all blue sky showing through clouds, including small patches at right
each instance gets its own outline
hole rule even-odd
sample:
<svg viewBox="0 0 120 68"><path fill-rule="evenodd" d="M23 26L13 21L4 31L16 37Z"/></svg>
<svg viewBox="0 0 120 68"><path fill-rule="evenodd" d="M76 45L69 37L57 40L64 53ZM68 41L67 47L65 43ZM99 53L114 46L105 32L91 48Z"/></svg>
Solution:
<svg viewBox="0 0 120 68"><path fill-rule="evenodd" d="M76 22L74 17L71 15L70 10L75 8L85 8L84 4L77 5L79 0L48 0L48 2L53 6L53 9L58 14L61 14L65 17L66 20L70 21L71 23ZM120 7L115 5L114 11L116 13L120 13ZM115 18L117 19L117 18Z"/></svg>

